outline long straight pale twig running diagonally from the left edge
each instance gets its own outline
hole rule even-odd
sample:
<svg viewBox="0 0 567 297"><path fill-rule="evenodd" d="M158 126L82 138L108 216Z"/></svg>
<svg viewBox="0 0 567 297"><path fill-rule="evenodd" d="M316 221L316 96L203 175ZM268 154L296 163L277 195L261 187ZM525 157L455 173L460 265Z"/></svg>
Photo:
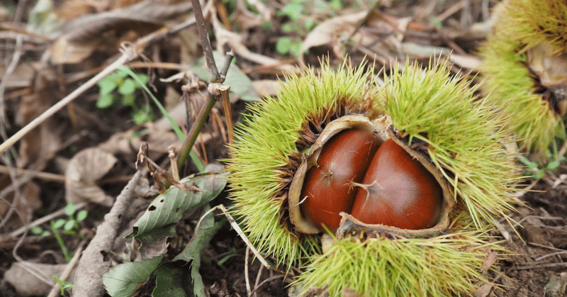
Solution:
<svg viewBox="0 0 567 297"><path fill-rule="evenodd" d="M199 9L201 9L201 8L199 7ZM38 125L40 125L40 123L43 123L43 121L45 121L47 118L49 118L50 116L55 114L57 111L59 111L64 106L67 106L67 104L71 103L74 99L77 99L77 97L80 94L82 94L87 89L91 88L91 86L94 86L96 84L96 82L99 82L99 80L103 79L103 77L106 77L108 74L111 74L120 65L123 65L125 62L129 62L131 60L134 60L136 57L138 57L140 55L141 50L143 50L144 47L146 47L149 43L160 40L160 39L166 37L167 35L169 35L171 33L176 33L179 30L181 30L181 28L187 28L187 27L193 25L194 23L195 23L195 19L191 18L188 21L181 23L180 25L182 25L182 26L176 26L172 30L168 30L167 27L163 27L163 28L160 28L159 30L156 30L153 33L150 33L150 35L146 35L145 37L140 38L133 45L133 47L131 47L130 49L123 52L123 54L120 57L118 57L118 59L116 59L113 63L111 63L111 65L108 65L105 69L103 69L101 72L99 72L99 74L96 74L93 78L89 79L89 81L85 82L84 84L79 86L77 89L72 91L71 94L65 96L59 102L55 103L55 105L53 105L49 109L47 109L47 111L43 112L40 116L33 119L33 121L28 123L28 125L21 128L21 130L19 130L14 135L12 135L11 138L4 141L0 145L0 152L4 152L4 150L6 150L6 148L11 147L16 141L20 140L23 137L23 135L26 135L28 132L30 132L30 130L33 130L33 128L36 128Z"/></svg>

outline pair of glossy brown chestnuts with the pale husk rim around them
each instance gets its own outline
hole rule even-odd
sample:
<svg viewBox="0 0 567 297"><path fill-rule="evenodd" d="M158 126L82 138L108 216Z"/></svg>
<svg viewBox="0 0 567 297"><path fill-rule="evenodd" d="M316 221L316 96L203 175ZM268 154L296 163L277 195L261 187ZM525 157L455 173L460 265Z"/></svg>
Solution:
<svg viewBox="0 0 567 297"><path fill-rule="evenodd" d="M290 188L291 220L301 232L336 232L344 216L396 230L442 228L449 197L434 167L367 119L347 116L308 153ZM327 128L325 128L327 130ZM324 135L324 136L323 136ZM400 143L397 143L400 142ZM416 159L420 158L420 160ZM445 185L447 187L447 185ZM301 211L301 215L294 215Z"/></svg>

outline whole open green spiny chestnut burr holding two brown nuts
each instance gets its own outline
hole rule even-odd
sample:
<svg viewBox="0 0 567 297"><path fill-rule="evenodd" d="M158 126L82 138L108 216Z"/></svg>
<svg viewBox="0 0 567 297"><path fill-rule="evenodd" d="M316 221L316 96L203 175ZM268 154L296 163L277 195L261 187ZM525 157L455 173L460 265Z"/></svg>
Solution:
<svg viewBox="0 0 567 297"><path fill-rule="evenodd" d="M396 66L378 86L374 69L325 62L250 106L227 160L230 211L298 269L301 292L462 296L488 281L503 249L487 230L518 172L505 118L445 63Z"/></svg>

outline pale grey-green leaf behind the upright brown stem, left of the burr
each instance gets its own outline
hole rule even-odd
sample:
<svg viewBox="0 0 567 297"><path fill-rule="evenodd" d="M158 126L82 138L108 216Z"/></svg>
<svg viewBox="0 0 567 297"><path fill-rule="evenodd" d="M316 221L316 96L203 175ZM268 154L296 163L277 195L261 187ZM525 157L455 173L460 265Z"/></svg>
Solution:
<svg viewBox="0 0 567 297"><path fill-rule="evenodd" d="M223 67L225 55L214 51L213 56L215 57L217 67L219 69ZM208 69L206 68L206 62L203 57L197 60L196 67L191 67L191 71L195 72L203 81L209 82ZM243 101L260 101L260 97L252 84L252 80L235 64L231 64L228 68L224 84L230 86L230 93L237 94Z"/></svg>

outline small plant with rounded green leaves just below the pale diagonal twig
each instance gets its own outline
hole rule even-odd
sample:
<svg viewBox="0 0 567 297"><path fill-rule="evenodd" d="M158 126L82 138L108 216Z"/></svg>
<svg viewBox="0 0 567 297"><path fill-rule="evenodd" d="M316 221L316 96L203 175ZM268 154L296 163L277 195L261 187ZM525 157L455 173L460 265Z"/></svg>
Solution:
<svg viewBox="0 0 567 297"><path fill-rule="evenodd" d="M147 74L135 74L138 79L130 77L128 72L123 69L116 69L116 72L108 74L101 79L97 85L99 86L99 99L96 100L97 108L108 108L115 105L118 101L126 107L133 109L132 120L135 124L147 123L153 121L155 115L152 108L145 103L141 107L136 104L135 94L142 89L148 82Z"/></svg>

